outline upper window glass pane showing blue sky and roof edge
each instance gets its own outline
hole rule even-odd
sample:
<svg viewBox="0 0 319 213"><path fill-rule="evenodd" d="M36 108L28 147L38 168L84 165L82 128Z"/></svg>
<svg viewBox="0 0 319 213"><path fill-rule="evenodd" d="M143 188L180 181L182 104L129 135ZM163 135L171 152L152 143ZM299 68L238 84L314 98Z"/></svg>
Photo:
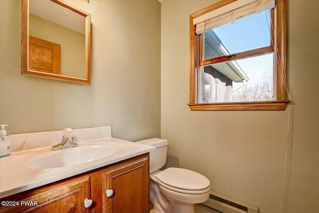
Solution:
<svg viewBox="0 0 319 213"><path fill-rule="evenodd" d="M270 10L205 32L204 59L269 46Z"/></svg>

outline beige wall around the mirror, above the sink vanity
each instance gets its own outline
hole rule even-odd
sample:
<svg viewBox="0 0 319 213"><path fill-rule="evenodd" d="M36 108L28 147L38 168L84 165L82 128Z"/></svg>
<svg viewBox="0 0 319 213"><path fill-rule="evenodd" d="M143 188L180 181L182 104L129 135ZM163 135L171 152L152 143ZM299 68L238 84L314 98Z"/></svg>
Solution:
<svg viewBox="0 0 319 213"><path fill-rule="evenodd" d="M0 0L0 123L9 134L112 126L160 137L160 2L70 0L91 13L91 85L20 75L20 0Z"/></svg>

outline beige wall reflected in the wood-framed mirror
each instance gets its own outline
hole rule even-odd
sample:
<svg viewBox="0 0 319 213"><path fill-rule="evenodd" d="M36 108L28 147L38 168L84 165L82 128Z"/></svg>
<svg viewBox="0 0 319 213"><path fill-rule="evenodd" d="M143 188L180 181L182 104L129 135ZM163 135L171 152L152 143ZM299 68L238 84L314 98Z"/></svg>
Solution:
<svg viewBox="0 0 319 213"><path fill-rule="evenodd" d="M29 35L61 45L61 75L85 78L85 34L29 14Z"/></svg>

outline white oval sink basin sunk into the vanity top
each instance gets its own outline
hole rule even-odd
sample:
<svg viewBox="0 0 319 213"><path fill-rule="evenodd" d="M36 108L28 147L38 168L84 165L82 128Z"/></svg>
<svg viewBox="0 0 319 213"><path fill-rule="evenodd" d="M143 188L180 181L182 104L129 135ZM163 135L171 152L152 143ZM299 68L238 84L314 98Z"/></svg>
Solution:
<svg viewBox="0 0 319 213"><path fill-rule="evenodd" d="M79 144L62 150L43 149L19 156L11 164L24 162L31 169L49 169L85 164L112 156L123 150L123 145L115 142L93 142Z"/></svg>

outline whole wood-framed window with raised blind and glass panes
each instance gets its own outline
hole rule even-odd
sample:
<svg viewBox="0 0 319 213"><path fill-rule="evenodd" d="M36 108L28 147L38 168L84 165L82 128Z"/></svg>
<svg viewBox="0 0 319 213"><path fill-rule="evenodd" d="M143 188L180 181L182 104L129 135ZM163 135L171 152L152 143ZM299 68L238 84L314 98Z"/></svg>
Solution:
<svg viewBox="0 0 319 213"><path fill-rule="evenodd" d="M191 110L284 110L286 0L221 0L190 15Z"/></svg>

